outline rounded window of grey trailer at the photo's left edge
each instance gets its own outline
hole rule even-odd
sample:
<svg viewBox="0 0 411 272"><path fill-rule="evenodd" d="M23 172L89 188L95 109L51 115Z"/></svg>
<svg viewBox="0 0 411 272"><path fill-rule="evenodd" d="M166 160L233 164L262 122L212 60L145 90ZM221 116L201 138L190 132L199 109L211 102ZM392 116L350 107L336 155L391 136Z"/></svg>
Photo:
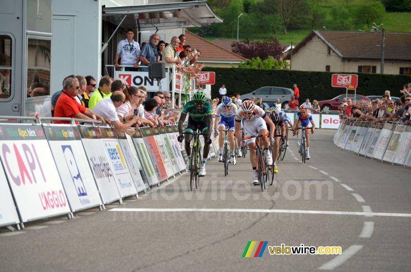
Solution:
<svg viewBox="0 0 411 272"><path fill-rule="evenodd" d="M0 35L0 99L8 99L12 90L11 49L10 36Z"/></svg>

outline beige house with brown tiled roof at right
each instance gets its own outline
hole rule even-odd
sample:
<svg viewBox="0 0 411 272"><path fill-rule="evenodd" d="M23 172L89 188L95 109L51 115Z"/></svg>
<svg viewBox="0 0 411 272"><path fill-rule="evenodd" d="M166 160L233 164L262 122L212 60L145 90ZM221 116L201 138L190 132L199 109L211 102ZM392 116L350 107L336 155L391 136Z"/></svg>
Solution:
<svg viewBox="0 0 411 272"><path fill-rule="evenodd" d="M382 32L313 30L287 53L291 70L381 73ZM411 33L385 32L384 73L411 74Z"/></svg>

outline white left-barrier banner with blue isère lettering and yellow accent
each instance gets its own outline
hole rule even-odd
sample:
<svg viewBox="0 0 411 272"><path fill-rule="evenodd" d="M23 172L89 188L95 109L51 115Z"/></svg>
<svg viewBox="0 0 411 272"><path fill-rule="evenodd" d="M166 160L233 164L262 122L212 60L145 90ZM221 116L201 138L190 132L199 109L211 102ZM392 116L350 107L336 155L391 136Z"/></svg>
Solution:
<svg viewBox="0 0 411 272"><path fill-rule="evenodd" d="M114 129L110 127L100 127L100 131L106 157L110 163L111 170L113 170L121 198L137 195L137 188L128 171L128 166L124 160L124 155Z"/></svg>

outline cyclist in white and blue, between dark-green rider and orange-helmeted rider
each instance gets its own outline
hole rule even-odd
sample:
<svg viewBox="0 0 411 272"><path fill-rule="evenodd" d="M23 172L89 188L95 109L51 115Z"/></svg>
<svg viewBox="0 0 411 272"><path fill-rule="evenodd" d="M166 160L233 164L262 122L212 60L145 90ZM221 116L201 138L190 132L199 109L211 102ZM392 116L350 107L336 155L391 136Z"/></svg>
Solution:
<svg viewBox="0 0 411 272"><path fill-rule="evenodd" d="M222 99L221 104L217 106L214 121L214 137L217 137L218 130L226 129L229 127L228 138L230 140L231 148L231 160L232 164L235 164L235 141L234 141L234 117L237 113L237 106L232 102L229 97ZM218 125L217 125L218 124ZM225 137L225 132L220 131L220 137L218 138L219 156L218 161L222 162L222 144Z"/></svg>

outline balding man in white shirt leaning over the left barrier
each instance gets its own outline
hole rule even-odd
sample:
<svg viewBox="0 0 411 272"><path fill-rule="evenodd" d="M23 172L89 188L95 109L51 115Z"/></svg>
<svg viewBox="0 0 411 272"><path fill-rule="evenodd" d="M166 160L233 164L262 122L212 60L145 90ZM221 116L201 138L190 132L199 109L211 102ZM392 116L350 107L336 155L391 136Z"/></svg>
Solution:
<svg viewBox="0 0 411 272"><path fill-rule="evenodd" d="M130 127L139 121L139 116L132 116L131 118L127 118L124 124L121 123L116 109L123 105L124 101L125 94L122 91L115 91L110 96L106 96L97 102L94 111L110 120L111 124L113 124L118 131L133 135L135 130Z"/></svg>

